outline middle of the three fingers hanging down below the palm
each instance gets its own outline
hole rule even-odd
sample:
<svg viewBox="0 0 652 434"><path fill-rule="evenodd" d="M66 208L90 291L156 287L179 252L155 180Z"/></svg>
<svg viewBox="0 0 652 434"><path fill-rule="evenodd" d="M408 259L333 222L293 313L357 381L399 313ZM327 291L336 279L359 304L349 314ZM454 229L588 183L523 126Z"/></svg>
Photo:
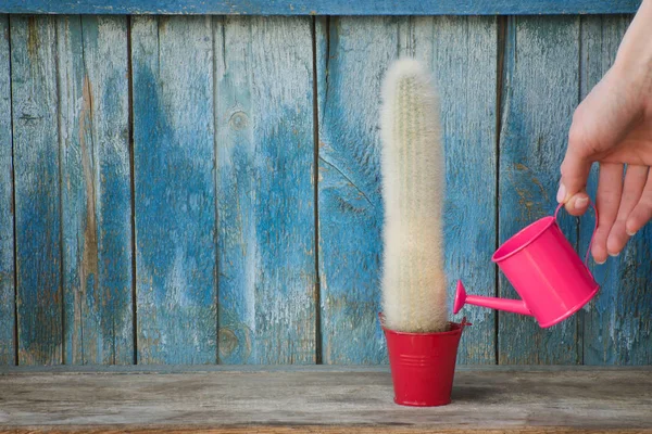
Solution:
<svg viewBox="0 0 652 434"><path fill-rule="evenodd" d="M606 251L611 256L618 256L629 241L626 228L627 218L643 194L643 188L648 181L648 166L627 166L618 215L606 240Z"/></svg>

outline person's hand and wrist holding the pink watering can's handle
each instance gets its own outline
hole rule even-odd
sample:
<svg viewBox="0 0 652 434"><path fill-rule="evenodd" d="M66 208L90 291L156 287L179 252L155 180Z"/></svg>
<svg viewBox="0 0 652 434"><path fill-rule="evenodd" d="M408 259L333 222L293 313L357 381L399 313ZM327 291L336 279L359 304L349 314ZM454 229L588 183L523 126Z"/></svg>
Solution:
<svg viewBox="0 0 652 434"><path fill-rule="evenodd" d="M586 184L600 164L600 221L592 254L597 263L617 256L652 219L652 0L631 23L614 66L577 107L561 167L557 202L569 214L589 205ZM627 170L625 171L625 165Z"/></svg>

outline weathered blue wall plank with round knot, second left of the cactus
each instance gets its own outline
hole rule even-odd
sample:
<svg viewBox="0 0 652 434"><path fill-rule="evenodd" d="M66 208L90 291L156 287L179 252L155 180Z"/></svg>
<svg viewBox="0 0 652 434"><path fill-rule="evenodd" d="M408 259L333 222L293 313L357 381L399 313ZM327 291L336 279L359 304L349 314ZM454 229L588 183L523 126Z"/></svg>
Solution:
<svg viewBox="0 0 652 434"><path fill-rule="evenodd" d="M316 360L310 18L215 21L220 361Z"/></svg>

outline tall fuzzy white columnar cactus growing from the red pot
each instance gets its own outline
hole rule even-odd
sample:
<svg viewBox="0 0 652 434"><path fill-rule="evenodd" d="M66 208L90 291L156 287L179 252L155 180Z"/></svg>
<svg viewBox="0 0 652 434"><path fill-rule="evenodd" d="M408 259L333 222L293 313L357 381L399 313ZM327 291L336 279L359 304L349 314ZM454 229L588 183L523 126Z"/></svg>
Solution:
<svg viewBox="0 0 652 434"><path fill-rule="evenodd" d="M399 60L388 71L380 126L385 327L446 331L444 153L437 93L417 61Z"/></svg>

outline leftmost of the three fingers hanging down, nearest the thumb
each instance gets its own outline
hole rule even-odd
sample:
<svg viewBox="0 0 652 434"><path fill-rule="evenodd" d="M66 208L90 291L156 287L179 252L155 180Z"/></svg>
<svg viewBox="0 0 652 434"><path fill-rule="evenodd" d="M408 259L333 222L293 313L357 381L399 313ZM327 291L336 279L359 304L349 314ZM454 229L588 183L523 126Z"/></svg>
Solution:
<svg viewBox="0 0 652 434"><path fill-rule="evenodd" d="M623 165L614 163L601 163L598 177L598 194L595 203L600 213L598 229L593 235L591 253L598 264L604 264L609 256L606 251L606 239L611 228L616 221L620 195L623 194Z"/></svg>

